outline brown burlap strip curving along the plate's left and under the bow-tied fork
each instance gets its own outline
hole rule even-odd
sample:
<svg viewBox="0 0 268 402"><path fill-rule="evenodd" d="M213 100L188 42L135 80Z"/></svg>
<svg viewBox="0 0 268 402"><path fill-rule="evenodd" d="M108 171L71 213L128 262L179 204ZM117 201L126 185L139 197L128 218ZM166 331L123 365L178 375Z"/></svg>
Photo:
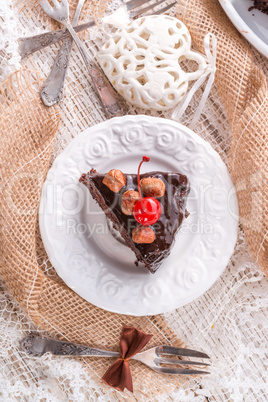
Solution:
<svg viewBox="0 0 268 402"><path fill-rule="evenodd" d="M154 334L148 346L181 345L160 316L129 317L101 310L79 297L56 275L45 275L38 265L38 255L45 252L36 236L37 213L59 117L56 110L43 106L35 74L23 69L0 87L1 276L39 328L65 339L117 350L122 326L128 325ZM101 378L110 361L84 359L96 379ZM138 362L131 362L131 370L137 395L144 395L142 390L148 395L161 394L184 381L152 375Z"/></svg>

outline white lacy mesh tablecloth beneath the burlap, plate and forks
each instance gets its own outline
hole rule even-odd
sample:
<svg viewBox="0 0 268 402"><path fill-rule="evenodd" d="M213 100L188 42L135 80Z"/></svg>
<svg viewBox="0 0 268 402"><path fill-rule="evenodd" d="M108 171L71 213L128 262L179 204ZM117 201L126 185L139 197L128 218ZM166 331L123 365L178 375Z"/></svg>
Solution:
<svg viewBox="0 0 268 402"><path fill-rule="evenodd" d="M119 1L114 1L116 8ZM111 8L112 8L111 7ZM48 21L38 19L40 9L32 0L2 0L0 3L0 78L7 78L21 67L16 39L48 29ZM93 54L105 39L98 28L87 33L87 46ZM54 45L34 54L27 67L45 77L59 49ZM268 76L267 60L252 49L256 63ZM57 133L53 159L79 132L104 120L98 100L88 85L76 49L70 61L65 98L59 104L63 124ZM79 83L79 85L76 85ZM192 109L200 94L194 97ZM90 116L88 110L91 110ZM133 109L131 113L143 113ZM159 115L157 113L150 113ZM165 117L170 117L168 112ZM187 114L182 123L191 118ZM228 164L231 131L224 108L214 87L202 119L195 131L219 152ZM49 273L47 261L41 262ZM45 356L25 362L18 348L19 340L35 325L0 282L0 399L3 401L86 401L114 400L109 390L90 377L74 359ZM177 401L266 401L267 381L267 290L268 281L253 260L242 229L235 252L224 273L202 297L165 314L168 325L185 344L196 345L212 358L212 374L192 379L161 400ZM44 399L42 399L44 398ZM159 398L158 398L159 399ZM159 399L159 400L160 400ZM148 400L144 397L144 400Z"/></svg>

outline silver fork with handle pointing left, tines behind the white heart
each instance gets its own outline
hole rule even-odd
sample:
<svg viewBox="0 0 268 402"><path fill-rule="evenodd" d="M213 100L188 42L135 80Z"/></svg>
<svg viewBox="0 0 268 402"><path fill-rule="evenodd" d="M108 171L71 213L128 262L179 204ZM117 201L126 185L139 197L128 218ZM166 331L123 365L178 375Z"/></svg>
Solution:
<svg viewBox="0 0 268 402"><path fill-rule="evenodd" d="M134 10L137 7L140 7L143 4L149 3L151 0L130 0L126 2L122 7L120 8L126 8L126 11L129 12L129 18L133 19L141 14L144 14L145 12L153 9L154 7L160 5L163 1L158 1L156 3L150 4L148 7L141 8L138 11L130 12L131 10ZM166 7L161 8L157 12L154 12L153 15L157 14L163 14L166 11L168 11L170 8L172 8L175 4L177 4L176 1L174 1L171 4L168 4ZM117 12L117 11L115 11ZM112 13L111 15L113 15ZM74 30L76 33L84 31L85 29L91 28L94 25L96 25L95 21L89 21L84 24L78 25L74 27ZM37 52L38 50L42 50L47 46L53 45L54 43L59 42L60 40L66 39L70 36L69 31L67 29L58 29L52 32L46 32L40 35L35 35L35 36L30 36L27 38L19 38L18 39L18 52L21 56L21 58L24 58L26 56L29 56L30 54L33 54L34 52Z"/></svg>

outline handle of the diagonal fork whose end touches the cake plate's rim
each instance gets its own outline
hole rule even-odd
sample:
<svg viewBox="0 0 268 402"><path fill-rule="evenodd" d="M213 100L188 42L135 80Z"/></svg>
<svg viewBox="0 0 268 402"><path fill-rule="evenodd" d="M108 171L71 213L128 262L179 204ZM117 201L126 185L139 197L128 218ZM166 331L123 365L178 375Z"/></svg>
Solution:
<svg viewBox="0 0 268 402"><path fill-rule="evenodd" d="M87 67L88 73L92 78L93 85L100 97L106 117L109 119L115 116L123 116L127 113L127 106L120 101L119 95L116 93L105 74L97 66L97 64L88 56L88 52L84 44L80 41L78 35L74 31L69 21L64 22L66 28L72 35L79 52Z"/></svg>

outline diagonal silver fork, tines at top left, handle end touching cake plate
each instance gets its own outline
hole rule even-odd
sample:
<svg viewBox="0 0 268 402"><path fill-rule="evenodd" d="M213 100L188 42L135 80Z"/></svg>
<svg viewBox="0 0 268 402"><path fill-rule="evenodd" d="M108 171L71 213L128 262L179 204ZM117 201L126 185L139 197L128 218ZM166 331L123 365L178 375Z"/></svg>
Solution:
<svg viewBox="0 0 268 402"><path fill-rule="evenodd" d="M39 0L40 6L45 13L54 20L62 23L68 29L76 43L76 46L83 58L87 67L88 73L92 79L92 83L102 103L103 110L106 117L109 119L115 116L123 116L127 113L127 105L123 102L122 97L114 90L103 71L97 66L92 57L89 56L88 51L79 39L77 33L74 31L69 19L69 4L68 0L52 0L54 7L52 7L48 0Z"/></svg>

